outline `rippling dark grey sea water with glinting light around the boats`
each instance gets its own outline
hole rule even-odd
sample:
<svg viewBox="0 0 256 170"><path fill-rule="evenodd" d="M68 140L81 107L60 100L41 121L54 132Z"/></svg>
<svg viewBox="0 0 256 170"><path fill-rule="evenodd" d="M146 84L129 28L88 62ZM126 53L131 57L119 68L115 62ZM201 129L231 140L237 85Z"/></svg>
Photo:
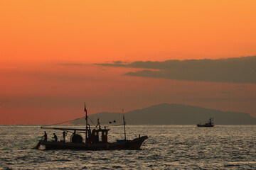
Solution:
<svg viewBox="0 0 256 170"><path fill-rule="evenodd" d="M255 125L127 125L128 139L149 136L135 151L31 149L43 135L40 127L0 125L0 169L256 169ZM53 132L62 139L61 131L46 131L49 140ZM122 132L112 127L110 141Z"/></svg>

